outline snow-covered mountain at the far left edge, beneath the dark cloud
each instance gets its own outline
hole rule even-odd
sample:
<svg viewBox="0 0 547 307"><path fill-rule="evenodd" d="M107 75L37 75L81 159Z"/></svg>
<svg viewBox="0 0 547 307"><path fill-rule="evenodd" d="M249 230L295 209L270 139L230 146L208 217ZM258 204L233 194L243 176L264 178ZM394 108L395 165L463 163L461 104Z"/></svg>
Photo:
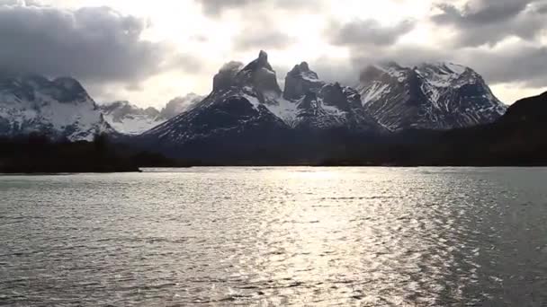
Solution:
<svg viewBox="0 0 547 307"><path fill-rule="evenodd" d="M71 141L115 133L84 87L73 78L0 78L0 135L40 133Z"/></svg>

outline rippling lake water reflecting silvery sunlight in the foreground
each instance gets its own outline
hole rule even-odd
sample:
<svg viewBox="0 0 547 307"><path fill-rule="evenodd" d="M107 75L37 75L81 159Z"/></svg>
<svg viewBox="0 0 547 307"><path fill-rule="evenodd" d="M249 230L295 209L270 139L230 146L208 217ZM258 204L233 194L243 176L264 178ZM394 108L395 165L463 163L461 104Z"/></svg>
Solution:
<svg viewBox="0 0 547 307"><path fill-rule="evenodd" d="M547 169L0 177L0 305L546 306Z"/></svg>

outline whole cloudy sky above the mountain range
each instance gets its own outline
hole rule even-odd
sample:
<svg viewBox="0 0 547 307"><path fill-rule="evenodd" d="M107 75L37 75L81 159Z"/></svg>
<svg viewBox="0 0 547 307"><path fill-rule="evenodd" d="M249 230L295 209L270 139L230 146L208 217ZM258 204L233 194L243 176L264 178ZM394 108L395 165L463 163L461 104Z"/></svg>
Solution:
<svg viewBox="0 0 547 307"><path fill-rule="evenodd" d="M354 85L378 61L471 66L507 103L547 91L547 0L0 0L0 69L162 106L268 51Z"/></svg>

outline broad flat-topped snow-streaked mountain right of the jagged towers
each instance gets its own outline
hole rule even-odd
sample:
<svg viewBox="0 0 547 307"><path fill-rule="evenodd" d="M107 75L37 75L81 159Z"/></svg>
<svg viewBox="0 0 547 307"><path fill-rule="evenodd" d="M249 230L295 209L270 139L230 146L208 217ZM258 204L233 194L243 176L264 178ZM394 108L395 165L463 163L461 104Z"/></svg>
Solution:
<svg viewBox="0 0 547 307"><path fill-rule="evenodd" d="M471 127L507 110L479 74L452 63L369 66L357 90L365 110L393 131Z"/></svg>

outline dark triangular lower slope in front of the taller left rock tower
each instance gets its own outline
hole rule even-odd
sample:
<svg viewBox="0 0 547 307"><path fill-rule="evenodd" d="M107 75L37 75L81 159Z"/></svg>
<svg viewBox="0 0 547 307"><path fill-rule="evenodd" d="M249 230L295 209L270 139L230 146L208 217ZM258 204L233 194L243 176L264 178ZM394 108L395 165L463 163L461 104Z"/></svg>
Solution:
<svg viewBox="0 0 547 307"><path fill-rule="evenodd" d="M236 88L212 92L192 110L139 138L148 146L181 159L217 162L259 159L253 151L282 143L287 127L264 105L256 104L257 98L249 94Z"/></svg>

